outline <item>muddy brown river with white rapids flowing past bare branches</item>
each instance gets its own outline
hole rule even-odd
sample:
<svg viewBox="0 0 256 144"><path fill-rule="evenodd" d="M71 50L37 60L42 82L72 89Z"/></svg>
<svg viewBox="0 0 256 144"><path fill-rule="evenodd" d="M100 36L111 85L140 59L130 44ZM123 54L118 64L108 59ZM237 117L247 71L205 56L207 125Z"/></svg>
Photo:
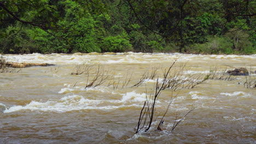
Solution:
<svg viewBox="0 0 256 144"><path fill-rule="evenodd" d="M247 85L256 80L256 55L127 52L3 57L9 62L54 65L0 73L0 143L256 143L256 89ZM174 61L170 79L184 83L161 91L152 128L135 134L144 101ZM224 74L241 67L251 75ZM209 74L212 79L203 81ZM191 82L199 84L186 87ZM158 116L165 113L172 95L177 97L164 117L164 130L156 130ZM172 131L173 123L191 107L195 109Z"/></svg>

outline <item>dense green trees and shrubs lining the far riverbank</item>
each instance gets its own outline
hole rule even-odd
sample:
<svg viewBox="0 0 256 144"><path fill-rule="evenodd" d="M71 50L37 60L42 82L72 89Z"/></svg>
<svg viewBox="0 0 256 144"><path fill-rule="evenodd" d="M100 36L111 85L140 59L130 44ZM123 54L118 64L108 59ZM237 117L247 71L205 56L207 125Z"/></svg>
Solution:
<svg viewBox="0 0 256 144"><path fill-rule="evenodd" d="M254 0L0 0L0 53L251 54Z"/></svg>

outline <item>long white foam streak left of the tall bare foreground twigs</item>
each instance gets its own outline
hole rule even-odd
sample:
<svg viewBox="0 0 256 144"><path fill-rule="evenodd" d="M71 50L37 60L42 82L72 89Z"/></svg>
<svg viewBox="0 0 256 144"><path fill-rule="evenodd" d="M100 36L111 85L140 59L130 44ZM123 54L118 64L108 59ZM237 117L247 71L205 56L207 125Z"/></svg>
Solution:
<svg viewBox="0 0 256 144"><path fill-rule="evenodd" d="M9 109L3 109L4 113L31 110L31 111L47 111L47 112L67 112L73 110L112 110L121 107L141 107L140 101L145 100L146 94L137 94L135 92L126 93L122 100L94 100L86 99L81 95L69 95L59 100L49 99L42 103L39 101L31 101L31 103L21 106L11 106ZM126 103L133 101L138 103ZM4 106L5 107L5 106Z"/></svg>

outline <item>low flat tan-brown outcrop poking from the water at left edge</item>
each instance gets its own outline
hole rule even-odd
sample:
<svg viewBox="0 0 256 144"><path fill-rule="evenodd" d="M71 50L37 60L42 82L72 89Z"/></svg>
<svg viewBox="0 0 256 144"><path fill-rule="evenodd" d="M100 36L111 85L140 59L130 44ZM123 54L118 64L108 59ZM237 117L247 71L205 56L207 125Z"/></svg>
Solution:
<svg viewBox="0 0 256 144"><path fill-rule="evenodd" d="M2 61L0 61L0 65L2 65ZM51 66L54 64L48 64L48 63L14 63L14 62L4 62L5 67L10 68L27 68L27 67L33 67L33 66Z"/></svg>

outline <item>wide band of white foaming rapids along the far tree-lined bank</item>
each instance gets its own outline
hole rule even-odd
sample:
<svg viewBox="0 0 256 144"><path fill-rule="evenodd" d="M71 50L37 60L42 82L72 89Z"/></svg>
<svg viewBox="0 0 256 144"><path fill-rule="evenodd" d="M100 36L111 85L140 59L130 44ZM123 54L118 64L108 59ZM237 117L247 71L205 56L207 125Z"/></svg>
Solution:
<svg viewBox="0 0 256 144"><path fill-rule="evenodd" d="M93 55L92 55L93 54ZM32 53L26 55L4 55L9 62L27 62L27 63L50 63L50 64L82 64L82 63L152 63L152 62L170 62L176 58L179 61L206 61L206 59L219 59L219 61L253 61L255 55L193 55L182 53L116 53L116 55L95 55L95 53L74 53L66 55L62 53L40 54ZM207 60L208 61L208 60Z"/></svg>

